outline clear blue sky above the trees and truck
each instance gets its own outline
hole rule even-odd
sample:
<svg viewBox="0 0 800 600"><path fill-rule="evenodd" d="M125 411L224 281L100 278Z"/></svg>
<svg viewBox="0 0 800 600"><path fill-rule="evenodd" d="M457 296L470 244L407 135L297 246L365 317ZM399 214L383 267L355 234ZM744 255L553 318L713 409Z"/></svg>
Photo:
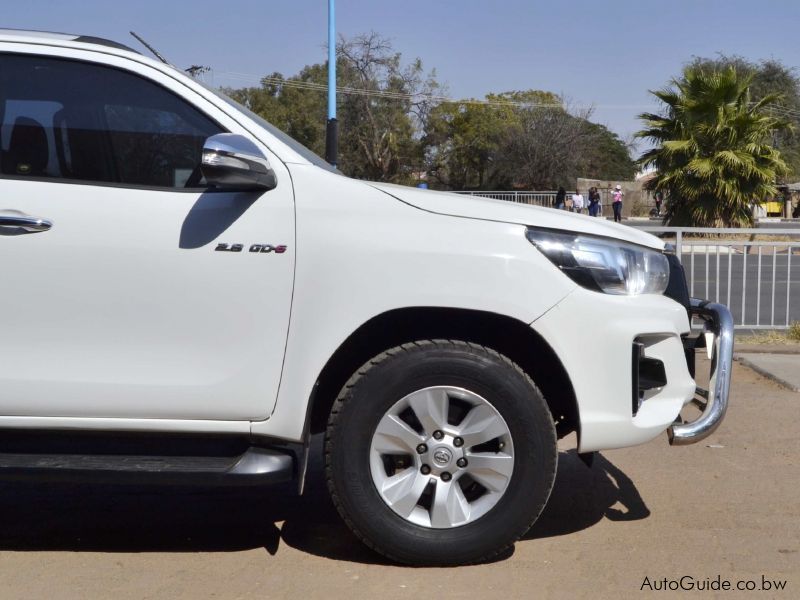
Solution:
<svg viewBox="0 0 800 600"><path fill-rule="evenodd" d="M595 105L625 137L692 56L717 52L800 66L797 0L338 0L345 36L374 30L435 68L452 97L543 89ZM327 0L27 0L0 27L108 37L134 30L176 66L209 65L216 85L292 75L325 60ZM226 73L246 73L250 82Z"/></svg>

